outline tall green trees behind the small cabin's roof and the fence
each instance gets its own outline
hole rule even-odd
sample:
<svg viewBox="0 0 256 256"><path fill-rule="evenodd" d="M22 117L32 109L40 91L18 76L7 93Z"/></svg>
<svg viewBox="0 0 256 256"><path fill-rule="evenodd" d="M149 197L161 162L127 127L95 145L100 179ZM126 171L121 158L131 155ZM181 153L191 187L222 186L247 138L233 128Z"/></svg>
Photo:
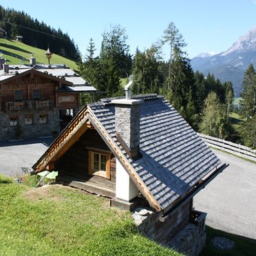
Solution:
<svg viewBox="0 0 256 256"><path fill-rule="evenodd" d="M212 74L204 77L193 71L182 34L169 23L162 38L131 56L125 28L112 25L103 33L100 53L90 39L78 70L99 94L84 95L82 105L104 97L122 96L123 85L133 75L133 94L161 94L177 109L191 127L203 134L256 147L256 74L253 65L244 74L241 109L233 109L232 83L221 83ZM162 46L169 45L169 60L164 61ZM120 79L121 78L121 79ZM126 78L126 79L124 79ZM123 83L125 81L125 83ZM232 112L238 111L239 125Z"/></svg>

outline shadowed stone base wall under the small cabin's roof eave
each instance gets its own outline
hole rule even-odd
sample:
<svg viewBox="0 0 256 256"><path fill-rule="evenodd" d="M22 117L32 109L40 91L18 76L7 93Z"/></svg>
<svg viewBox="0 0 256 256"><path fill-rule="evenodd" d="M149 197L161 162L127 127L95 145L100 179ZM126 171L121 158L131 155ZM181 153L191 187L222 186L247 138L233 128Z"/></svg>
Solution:
<svg viewBox="0 0 256 256"><path fill-rule="evenodd" d="M160 215L150 209L136 209L134 222L143 235L159 244L184 255L199 255L206 243L205 218L200 223L189 222L190 203L180 207L164 222L160 222Z"/></svg>

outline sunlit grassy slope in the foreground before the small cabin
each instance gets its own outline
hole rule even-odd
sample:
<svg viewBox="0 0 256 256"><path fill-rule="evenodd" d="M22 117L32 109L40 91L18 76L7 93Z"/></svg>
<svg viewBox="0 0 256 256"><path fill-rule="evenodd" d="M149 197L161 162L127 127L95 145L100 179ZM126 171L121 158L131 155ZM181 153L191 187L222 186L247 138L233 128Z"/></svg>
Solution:
<svg viewBox="0 0 256 256"><path fill-rule="evenodd" d="M108 200L0 175L0 255L179 255L140 235ZM31 254L32 253L32 254Z"/></svg>

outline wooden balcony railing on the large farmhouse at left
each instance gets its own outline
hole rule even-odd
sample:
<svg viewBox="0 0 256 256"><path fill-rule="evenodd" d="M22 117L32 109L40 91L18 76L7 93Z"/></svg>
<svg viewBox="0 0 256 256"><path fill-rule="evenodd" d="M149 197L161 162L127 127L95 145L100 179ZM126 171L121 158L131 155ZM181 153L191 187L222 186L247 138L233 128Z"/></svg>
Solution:
<svg viewBox="0 0 256 256"><path fill-rule="evenodd" d="M6 111L23 109L48 109L53 107L52 100L23 100L6 102Z"/></svg>

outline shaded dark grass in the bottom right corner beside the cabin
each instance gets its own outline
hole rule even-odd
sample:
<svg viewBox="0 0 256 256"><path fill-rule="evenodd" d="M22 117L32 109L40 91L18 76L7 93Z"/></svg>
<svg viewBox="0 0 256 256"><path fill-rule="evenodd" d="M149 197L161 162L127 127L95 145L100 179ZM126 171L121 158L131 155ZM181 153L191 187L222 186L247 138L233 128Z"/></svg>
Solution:
<svg viewBox="0 0 256 256"><path fill-rule="evenodd" d="M242 237L240 235L233 235L226 233L209 226L206 226L206 246L200 254L200 256L255 256L256 255L256 240L248 237ZM212 244L214 237L225 237L235 242L235 246L232 249L217 249Z"/></svg>

